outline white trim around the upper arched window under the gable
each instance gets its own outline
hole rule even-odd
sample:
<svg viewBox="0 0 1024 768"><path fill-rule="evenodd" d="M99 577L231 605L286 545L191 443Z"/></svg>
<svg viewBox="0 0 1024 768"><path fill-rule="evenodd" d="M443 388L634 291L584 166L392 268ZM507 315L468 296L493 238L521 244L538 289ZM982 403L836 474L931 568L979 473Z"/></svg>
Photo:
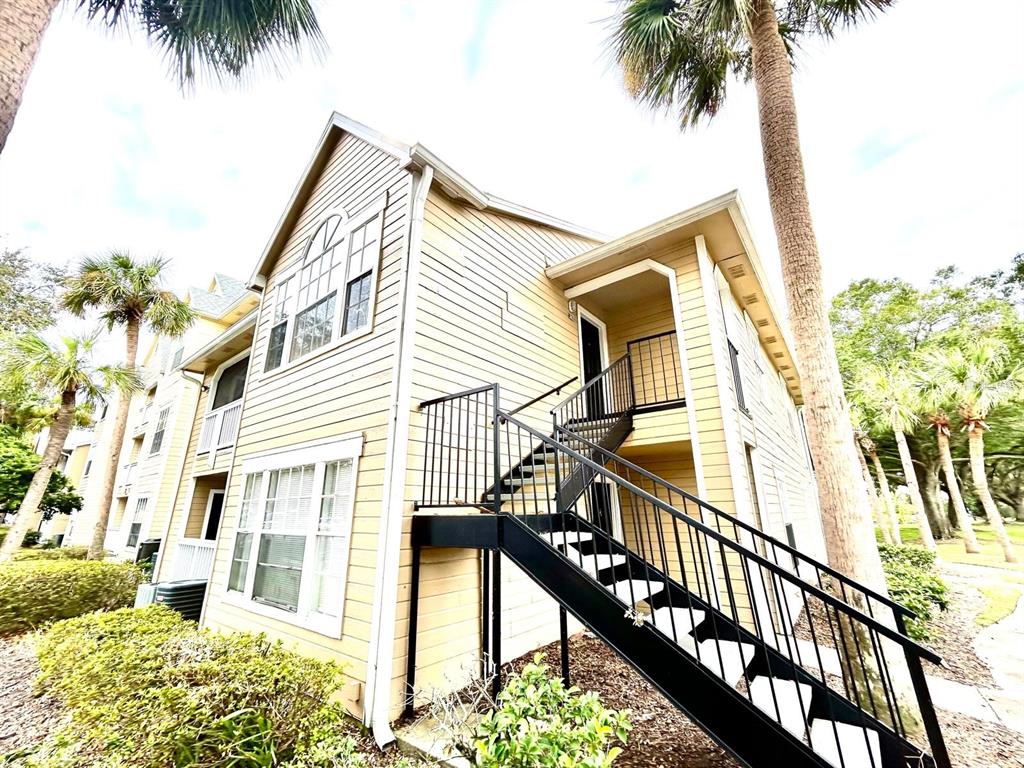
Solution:
<svg viewBox="0 0 1024 768"><path fill-rule="evenodd" d="M327 344L324 344L323 346L310 350L309 352L299 355L298 357L295 357L293 359L291 357L291 349L292 349L292 336L295 333L295 322L299 313L308 308L308 306L299 308L298 305L296 305L292 315L288 318L288 325L285 327L285 339L282 349L282 362L276 368L267 371L266 357L267 357L267 352L269 351L270 348L270 330L274 327L274 325L276 325L273 322L273 314L271 311L270 323L267 326L266 338L262 342L263 357L261 359L261 365L260 365L261 370L257 372L257 376L259 377L260 381L269 380L275 376L281 376L285 372L291 371L296 366L300 366L304 362L316 359L317 357L321 357L322 355L327 354L328 352L332 352L338 349L339 347L345 346L346 344L350 344L351 342L355 341L356 339L362 336L373 333L374 319L375 319L374 315L377 309L377 285L378 281L380 280L381 259L383 258L383 253L384 253L383 212L386 207L387 207L387 195L385 194L381 196L375 203L372 203L370 206L362 209L362 211L360 211L358 214L352 216L347 220L343 220L342 223L339 224L339 227L345 227L345 234L343 240L347 240L348 236L353 230L358 229L360 226L369 223L378 214L380 215L380 219L378 221L378 230L377 230L377 244L379 246L379 250L377 254L377 259L374 262L373 269L370 272L370 304L367 307L367 325L362 326L361 328L355 331L350 331L345 335L341 335L341 327L344 321L343 315L345 311L345 301L347 299L346 294L348 289L348 282L346 281L343 285L340 285L337 288L337 295L335 297L335 302L334 302L335 304L334 317L331 321L332 340L329 341ZM327 215L330 216L336 213L338 213L338 211L331 211ZM318 229L319 224L317 224L316 227ZM314 229L313 233L315 233L315 231L316 230ZM265 293L266 297L269 298L272 292L275 291L278 289L278 286L281 285L282 283L292 280L293 278L298 278L299 273L302 271L303 264L305 263L306 255L307 254L305 253L305 251L303 251L302 260L274 281L273 289L268 290ZM297 286L295 287L295 290L296 292L298 291ZM312 306L312 304L310 304L309 306ZM270 305L270 308L272 310L273 308L272 305ZM252 361L250 361L250 366L251 365Z"/></svg>

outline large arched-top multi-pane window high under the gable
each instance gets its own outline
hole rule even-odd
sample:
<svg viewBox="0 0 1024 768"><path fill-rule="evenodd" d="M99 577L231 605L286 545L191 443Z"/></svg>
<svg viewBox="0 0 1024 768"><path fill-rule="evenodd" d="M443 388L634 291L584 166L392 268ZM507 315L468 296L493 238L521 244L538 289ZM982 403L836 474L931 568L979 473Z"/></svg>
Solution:
<svg viewBox="0 0 1024 768"><path fill-rule="evenodd" d="M276 281L265 371L370 331L384 202L347 221L328 216L306 244L298 270Z"/></svg>

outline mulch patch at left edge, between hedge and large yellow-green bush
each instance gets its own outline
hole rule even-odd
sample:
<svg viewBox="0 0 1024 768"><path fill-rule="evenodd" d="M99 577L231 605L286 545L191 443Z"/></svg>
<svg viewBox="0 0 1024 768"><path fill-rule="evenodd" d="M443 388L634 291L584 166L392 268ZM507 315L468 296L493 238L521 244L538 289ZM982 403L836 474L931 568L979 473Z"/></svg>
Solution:
<svg viewBox="0 0 1024 768"><path fill-rule="evenodd" d="M38 744L63 717L57 700L33 693L38 671L29 639L0 640L0 755Z"/></svg>

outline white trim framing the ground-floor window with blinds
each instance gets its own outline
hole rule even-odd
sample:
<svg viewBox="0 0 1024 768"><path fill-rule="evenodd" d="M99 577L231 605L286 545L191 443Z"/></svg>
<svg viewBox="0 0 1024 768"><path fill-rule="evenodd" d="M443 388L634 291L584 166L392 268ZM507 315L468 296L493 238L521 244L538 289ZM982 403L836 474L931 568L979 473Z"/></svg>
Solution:
<svg viewBox="0 0 1024 768"><path fill-rule="evenodd" d="M334 639L341 639L341 632L344 626L345 617L345 595L348 586L348 564L351 559L352 523L355 519L355 495L358 490L359 457L362 455L362 442L364 435L362 433L358 433L355 435L346 435L341 439L333 440L331 442L300 445L289 449L288 451L255 456L242 462L242 468L240 471L242 484L240 486L241 489L238 502L233 505L234 530L230 537L228 567L230 566L231 558L233 558L234 537L238 535L239 514L242 508L242 495L245 489L246 475L262 473L263 476L259 480L256 496L257 506L254 512L255 524L251 529L253 538L249 550L249 568L246 571L245 590L241 593L229 590L227 588L227 580L225 580L223 589L223 599L225 602L251 613L258 613L259 615L266 616L267 618L273 618L284 622L285 624L302 627ZM299 586L299 609L293 613L292 611L284 610L283 608L275 608L272 605L256 602L252 599L252 593L253 586L256 581L256 561L259 556L259 541L263 524L262 517L264 505L266 504L266 486L268 481L267 474L275 469L299 467L305 464L313 465L313 500L314 505L317 506L313 509L314 514L310 514L310 528L306 534L306 541L308 544L311 540L315 541L314 530L315 523L319 518L318 500L322 497L324 489L325 466L328 462L341 461L345 459L350 459L352 462L352 508L349 510L348 524L346 530L344 531L348 546L343 552L344 562L341 567L343 577L341 589L339 590L338 595L339 614L337 616L329 616L323 613L316 613L309 609L312 596L312 580L309 578L309 574L312 573L313 559L316 554L315 547L310 546L306 546L302 562L302 581ZM223 512L221 514L223 514ZM226 537L224 537L224 541L225 543L228 541Z"/></svg>

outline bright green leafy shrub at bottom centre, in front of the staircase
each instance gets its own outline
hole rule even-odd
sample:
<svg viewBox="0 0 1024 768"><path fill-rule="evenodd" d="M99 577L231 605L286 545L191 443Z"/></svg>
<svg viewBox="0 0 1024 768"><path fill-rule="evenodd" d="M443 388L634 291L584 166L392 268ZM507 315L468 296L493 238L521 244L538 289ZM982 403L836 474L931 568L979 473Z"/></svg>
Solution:
<svg viewBox="0 0 1024 768"><path fill-rule="evenodd" d="M476 765L484 768L603 768L632 728L627 712L606 709L597 693L565 688L543 654L509 678L498 707L477 726Z"/></svg>

